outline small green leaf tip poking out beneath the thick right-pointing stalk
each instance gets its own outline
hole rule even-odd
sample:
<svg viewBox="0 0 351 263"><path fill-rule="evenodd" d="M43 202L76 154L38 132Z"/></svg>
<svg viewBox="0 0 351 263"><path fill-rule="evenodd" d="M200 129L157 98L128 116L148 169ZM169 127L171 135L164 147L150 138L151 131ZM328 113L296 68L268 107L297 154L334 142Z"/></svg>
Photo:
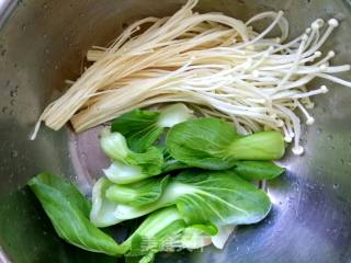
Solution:
<svg viewBox="0 0 351 263"><path fill-rule="evenodd" d="M281 175L285 169L265 161L238 161L233 168L236 174L248 181L271 180Z"/></svg>

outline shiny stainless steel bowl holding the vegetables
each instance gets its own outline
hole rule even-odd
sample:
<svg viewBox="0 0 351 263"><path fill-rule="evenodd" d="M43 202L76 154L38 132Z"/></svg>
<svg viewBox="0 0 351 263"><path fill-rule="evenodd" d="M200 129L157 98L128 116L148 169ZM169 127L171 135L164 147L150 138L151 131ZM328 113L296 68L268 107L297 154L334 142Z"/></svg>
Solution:
<svg viewBox="0 0 351 263"><path fill-rule="evenodd" d="M44 128L35 141L27 138L39 112L65 88L65 79L79 76L90 45L104 45L125 23L171 14L183 2L22 0L15 5L0 31L0 254L4 251L15 263L116 262L63 242L33 194L22 187L46 170L88 191L99 175L94 132L77 137L69 127L58 133ZM293 35L317 18L336 16L342 23L326 50L335 49L335 61L347 64L351 61L348 2L202 0L199 10L246 19L282 9ZM274 203L270 216L258 225L238 227L223 251L160 254L157 262L351 262L351 90L336 84L329 90L315 100L316 123L304 136L306 153L288 155L282 161L287 174L268 185Z"/></svg>

